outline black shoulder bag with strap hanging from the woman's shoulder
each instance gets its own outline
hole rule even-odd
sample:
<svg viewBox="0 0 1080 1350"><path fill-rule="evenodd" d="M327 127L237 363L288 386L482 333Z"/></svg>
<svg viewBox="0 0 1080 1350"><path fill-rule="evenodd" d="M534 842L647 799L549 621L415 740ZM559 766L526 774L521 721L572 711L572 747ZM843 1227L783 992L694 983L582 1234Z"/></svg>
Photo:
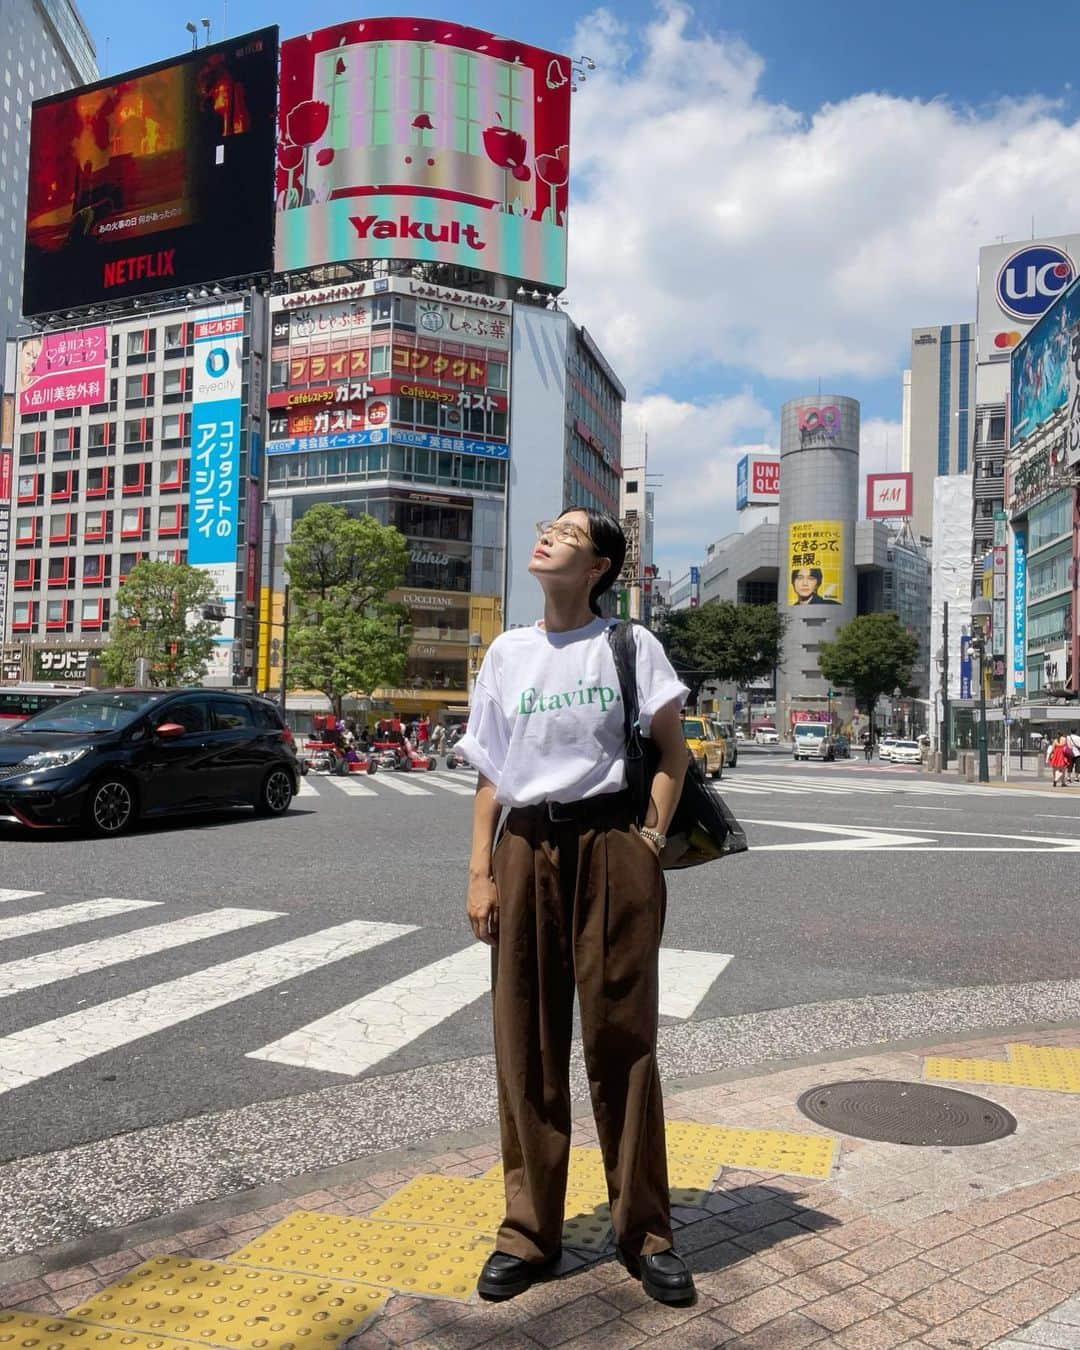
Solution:
<svg viewBox="0 0 1080 1350"><path fill-rule="evenodd" d="M637 647L633 640L633 625L614 624L608 629L608 641L612 645L622 695L626 780L633 792L637 824L641 825L649 807L652 779L660 753L652 740L641 734L639 725ZM729 853L745 853L749 848L742 826L722 798L709 788L688 751L687 760L683 792L667 828L667 846L660 855L660 865L666 871L698 867L701 863L711 863Z"/></svg>

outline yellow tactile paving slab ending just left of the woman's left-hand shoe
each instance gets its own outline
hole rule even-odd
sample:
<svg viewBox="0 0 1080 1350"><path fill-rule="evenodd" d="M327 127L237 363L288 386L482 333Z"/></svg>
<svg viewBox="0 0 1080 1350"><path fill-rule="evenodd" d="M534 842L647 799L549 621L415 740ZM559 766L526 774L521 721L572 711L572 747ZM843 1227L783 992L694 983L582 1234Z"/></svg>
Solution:
<svg viewBox="0 0 1080 1350"><path fill-rule="evenodd" d="M477 1228L301 1210L240 1247L232 1260L401 1293L467 1299L490 1250L490 1234Z"/></svg>

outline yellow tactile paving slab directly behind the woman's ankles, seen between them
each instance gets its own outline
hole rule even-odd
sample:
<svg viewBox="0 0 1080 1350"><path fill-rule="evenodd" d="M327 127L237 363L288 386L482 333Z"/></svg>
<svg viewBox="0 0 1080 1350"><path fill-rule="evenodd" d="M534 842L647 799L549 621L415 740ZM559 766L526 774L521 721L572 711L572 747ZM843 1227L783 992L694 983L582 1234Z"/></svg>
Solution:
<svg viewBox="0 0 1080 1350"><path fill-rule="evenodd" d="M466 1224L494 1239L505 1202L502 1177L424 1174L413 1177L389 1200L383 1200L369 1218L458 1228ZM606 1243L612 1227L606 1192L598 1197L594 1192L567 1191L566 1215L563 1242L567 1246L598 1249Z"/></svg>

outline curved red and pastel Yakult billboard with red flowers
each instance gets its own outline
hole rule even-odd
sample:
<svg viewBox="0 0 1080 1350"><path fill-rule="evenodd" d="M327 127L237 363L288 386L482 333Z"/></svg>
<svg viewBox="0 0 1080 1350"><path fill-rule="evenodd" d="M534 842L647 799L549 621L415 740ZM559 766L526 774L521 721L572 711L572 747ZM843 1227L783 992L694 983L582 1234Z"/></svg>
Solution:
<svg viewBox="0 0 1080 1350"><path fill-rule="evenodd" d="M281 49L279 271L417 258L566 284L570 59L435 19Z"/></svg>

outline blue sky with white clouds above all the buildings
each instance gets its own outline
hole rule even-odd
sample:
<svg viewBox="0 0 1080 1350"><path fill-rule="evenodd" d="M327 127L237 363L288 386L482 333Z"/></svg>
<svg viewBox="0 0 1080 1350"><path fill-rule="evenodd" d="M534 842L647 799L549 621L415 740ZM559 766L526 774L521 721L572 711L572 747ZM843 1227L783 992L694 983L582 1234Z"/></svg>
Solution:
<svg viewBox="0 0 1080 1350"><path fill-rule="evenodd" d="M364 14L78 3L113 74L182 50L189 18L217 39L223 14L228 34L282 36ZM570 312L626 379L629 424L666 474L666 570L733 528L734 460L775 443L780 402L818 379L861 400L864 467L898 467L910 328L975 317L980 244L1026 238L1031 215L1044 234L1080 228L1080 12L1060 0L417 12L598 62L575 96Z"/></svg>

